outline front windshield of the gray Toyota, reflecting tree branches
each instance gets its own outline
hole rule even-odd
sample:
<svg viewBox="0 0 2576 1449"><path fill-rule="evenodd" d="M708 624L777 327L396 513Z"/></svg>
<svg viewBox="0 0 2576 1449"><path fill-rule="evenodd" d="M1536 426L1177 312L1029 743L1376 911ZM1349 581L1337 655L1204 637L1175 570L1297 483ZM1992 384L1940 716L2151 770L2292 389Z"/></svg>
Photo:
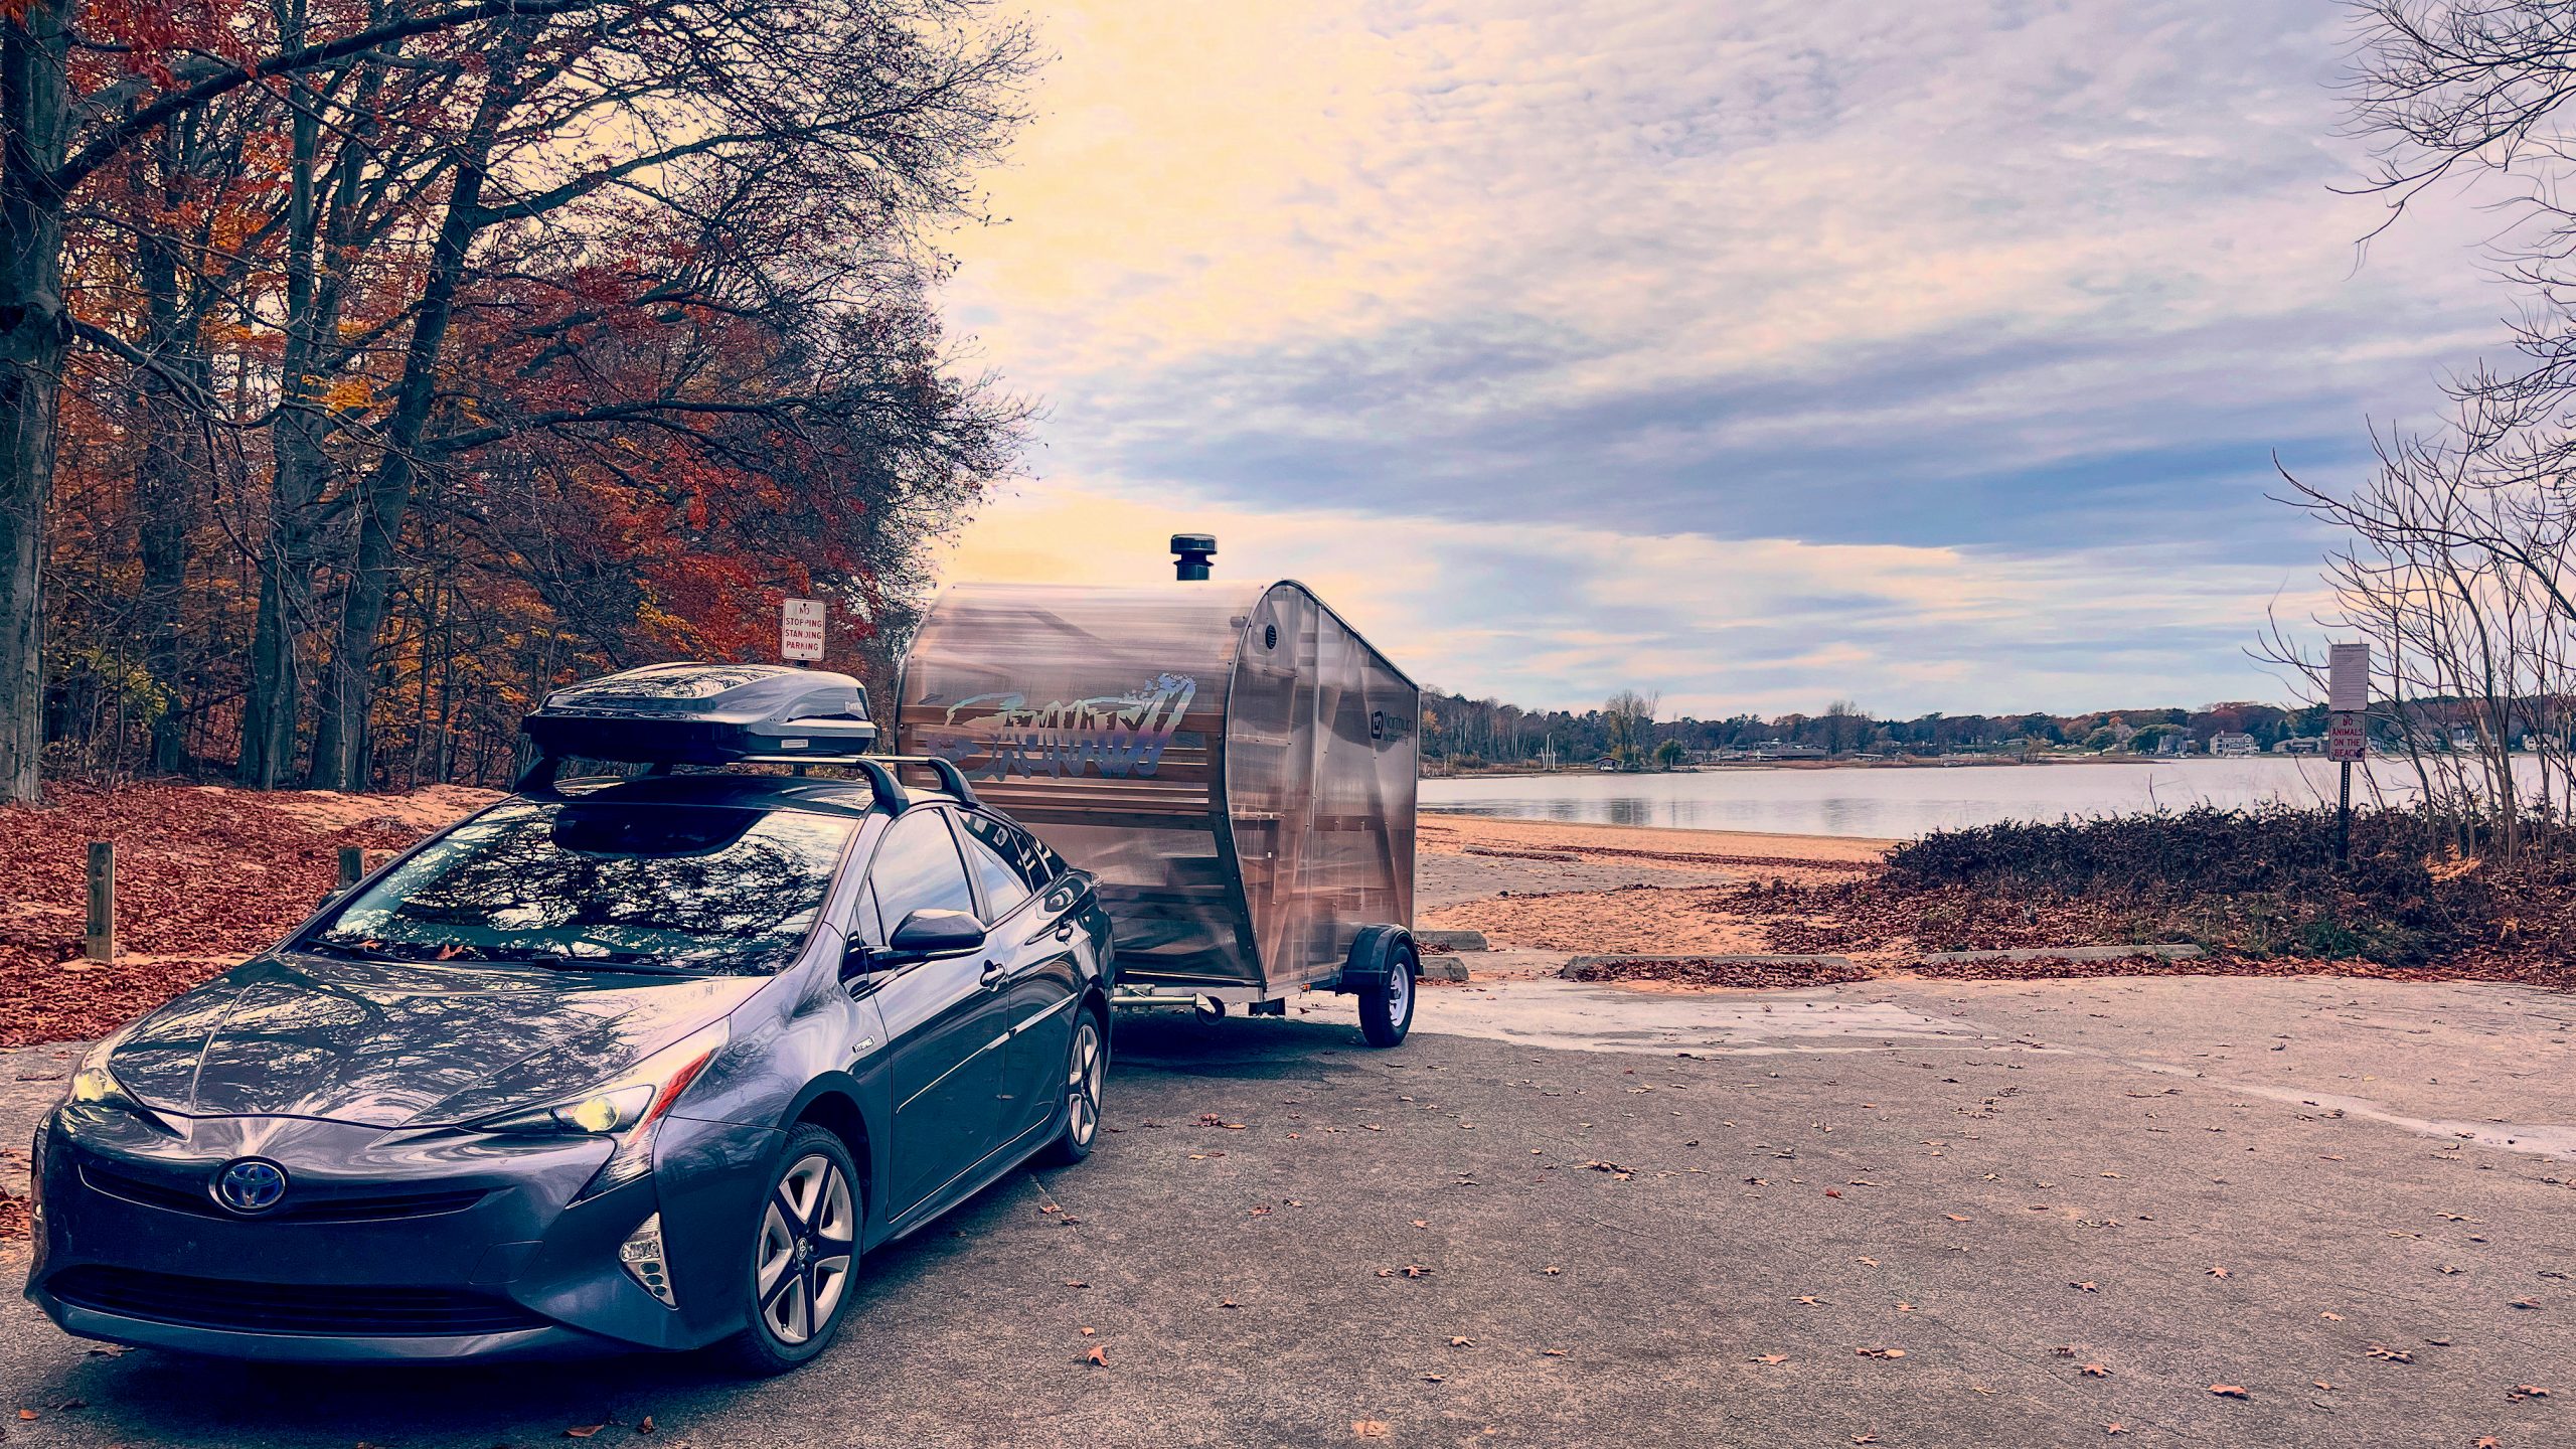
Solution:
<svg viewBox="0 0 2576 1449"><path fill-rule="evenodd" d="M510 802L350 897L301 944L407 962L770 972L822 913L855 820Z"/></svg>

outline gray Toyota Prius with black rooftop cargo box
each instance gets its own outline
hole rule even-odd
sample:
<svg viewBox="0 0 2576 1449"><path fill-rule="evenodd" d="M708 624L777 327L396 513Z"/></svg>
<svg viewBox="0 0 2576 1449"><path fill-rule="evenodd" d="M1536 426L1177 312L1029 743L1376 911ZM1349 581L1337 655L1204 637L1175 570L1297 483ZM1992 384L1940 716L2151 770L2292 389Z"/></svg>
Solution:
<svg viewBox="0 0 2576 1449"><path fill-rule="evenodd" d="M1092 1150L1092 877L951 766L866 755L855 681L654 665L528 730L510 799L88 1052L36 1132L28 1297L62 1328L781 1372L871 1245ZM703 768L765 761L799 768Z"/></svg>

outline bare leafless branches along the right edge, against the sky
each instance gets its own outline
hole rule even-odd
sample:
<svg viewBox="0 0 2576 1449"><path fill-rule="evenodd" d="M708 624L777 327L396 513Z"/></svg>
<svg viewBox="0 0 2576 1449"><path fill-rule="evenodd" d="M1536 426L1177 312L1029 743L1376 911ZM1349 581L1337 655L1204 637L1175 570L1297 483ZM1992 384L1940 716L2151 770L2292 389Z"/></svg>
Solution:
<svg viewBox="0 0 2576 1449"><path fill-rule="evenodd" d="M2519 853L2566 835L2576 807L2576 10L2550 0L2354 0L2347 80L2372 142L2362 191L2380 229L2437 183L2478 183L2504 217L2494 253L2527 304L2512 366L2447 384L2434 431L2372 431L2370 480L2287 477L2290 503L2347 539L2318 619L2375 645L2378 719L2411 763L2427 820L2455 848ZM2378 235L2378 229L2372 232ZM2259 655L2316 681L2282 627ZM2530 745L2530 779L2517 745Z"/></svg>

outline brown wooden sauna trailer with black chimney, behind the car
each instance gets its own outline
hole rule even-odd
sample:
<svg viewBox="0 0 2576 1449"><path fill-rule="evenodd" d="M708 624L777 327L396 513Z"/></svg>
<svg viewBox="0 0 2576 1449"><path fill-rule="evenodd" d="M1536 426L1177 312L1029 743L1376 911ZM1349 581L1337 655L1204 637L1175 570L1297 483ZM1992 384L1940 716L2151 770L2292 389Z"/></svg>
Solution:
<svg viewBox="0 0 2576 1449"><path fill-rule="evenodd" d="M1206 578L1213 541L1172 547ZM1419 714L1301 583L987 583L930 608L894 730L1100 879L1121 1006L1347 990L1394 1047L1419 972Z"/></svg>

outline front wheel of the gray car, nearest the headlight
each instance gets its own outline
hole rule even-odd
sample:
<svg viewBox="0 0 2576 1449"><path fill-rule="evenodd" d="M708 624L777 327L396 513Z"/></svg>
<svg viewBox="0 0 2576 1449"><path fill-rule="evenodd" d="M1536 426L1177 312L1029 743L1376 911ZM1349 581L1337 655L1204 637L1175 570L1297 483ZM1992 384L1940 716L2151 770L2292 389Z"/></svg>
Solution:
<svg viewBox="0 0 2576 1449"><path fill-rule="evenodd" d="M850 1147L811 1122L788 1129L768 1181L750 1232L744 1325L726 1343L752 1377L786 1374L840 1333L868 1212Z"/></svg>

